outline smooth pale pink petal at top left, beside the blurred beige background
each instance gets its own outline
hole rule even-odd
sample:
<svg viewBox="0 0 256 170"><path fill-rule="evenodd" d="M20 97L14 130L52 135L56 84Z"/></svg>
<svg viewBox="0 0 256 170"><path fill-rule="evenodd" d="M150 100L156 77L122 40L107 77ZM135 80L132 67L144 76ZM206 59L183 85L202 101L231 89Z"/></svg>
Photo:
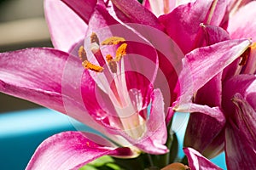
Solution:
<svg viewBox="0 0 256 170"><path fill-rule="evenodd" d="M87 25L71 8L61 1L44 1L45 18L55 48L68 51L75 42L84 38Z"/></svg>

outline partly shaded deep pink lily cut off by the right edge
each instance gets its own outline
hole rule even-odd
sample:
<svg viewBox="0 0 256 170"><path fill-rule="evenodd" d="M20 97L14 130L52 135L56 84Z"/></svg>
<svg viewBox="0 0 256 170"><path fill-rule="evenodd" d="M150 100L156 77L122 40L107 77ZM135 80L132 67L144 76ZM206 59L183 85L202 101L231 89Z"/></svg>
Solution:
<svg viewBox="0 0 256 170"><path fill-rule="evenodd" d="M256 166L255 147L247 144L255 142L254 134L250 133L254 123L247 121L255 115L255 7L255 2L247 3L230 16L230 38L250 37L253 44L197 92L185 134L184 145L208 158L225 150L229 169Z"/></svg>

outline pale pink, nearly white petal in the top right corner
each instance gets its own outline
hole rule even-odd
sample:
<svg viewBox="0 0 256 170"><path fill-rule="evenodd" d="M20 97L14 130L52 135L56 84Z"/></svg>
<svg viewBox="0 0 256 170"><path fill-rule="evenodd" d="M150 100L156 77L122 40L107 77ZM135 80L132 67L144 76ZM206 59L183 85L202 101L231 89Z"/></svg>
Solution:
<svg viewBox="0 0 256 170"><path fill-rule="evenodd" d="M235 38L252 38L256 41L256 2L247 3L241 7L234 16L229 20L228 31L230 37Z"/></svg>

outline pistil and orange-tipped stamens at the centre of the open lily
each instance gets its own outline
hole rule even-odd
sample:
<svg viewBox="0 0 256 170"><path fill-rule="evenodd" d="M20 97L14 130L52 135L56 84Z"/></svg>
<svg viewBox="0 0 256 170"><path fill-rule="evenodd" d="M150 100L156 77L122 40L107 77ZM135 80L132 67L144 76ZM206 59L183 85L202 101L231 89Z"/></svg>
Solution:
<svg viewBox="0 0 256 170"><path fill-rule="evenodd" d="M102 46L116 48L113 57L112 54L102 55L100 41L96 33L90 36L90 51L94 54L97 64L89 61L83 46L79 48L79 58L85 69L90 70L91 77L96 84L108 94L113 103L116 116L122 130L129 134L131 138L138 139L145 132L145 120L140 116L142 110L142 96L140 93L132 93L128 90L125 80L125 61L127 43L123 37L109 37L102 41ZM96 63L94 62L94 63ZM132 89L134 91L134 89ZM137 99L134 101L134 99ZM113 114L113 113L111 113ZM111 122L110 122L111 123Z"/></svg>

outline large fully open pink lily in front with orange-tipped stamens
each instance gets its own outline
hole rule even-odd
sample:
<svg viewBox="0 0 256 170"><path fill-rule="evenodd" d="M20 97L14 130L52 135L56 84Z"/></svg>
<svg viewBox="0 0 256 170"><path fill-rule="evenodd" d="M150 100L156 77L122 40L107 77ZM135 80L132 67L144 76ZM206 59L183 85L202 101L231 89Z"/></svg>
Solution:
<svg viewBox="0 0 256 170"><path fill-rule="evenodd" d="M154 37L163 34L165 27L147 8L135 0L113 0L112 3L108 7L108 3L103 1L46 0L46 19L55 48L28 48L0 54L1 92L72 116L107 137L103 139L81 132L56 134L38 146L26 169L78 169L104 155L135 157L141 152L155 155L166 153L165 120L169 122L172 118L172 114L166 118L167 107L175 107L176 103L181 105L183 99L191 99L208 80L237 59L250 43L247 39L219 42L183 56L170 38L164 41L164 46L161 44L163 40ZM143 34L145 30L140 30L141 27L119 24L116 17L124 23L154 27L159 34L149 34L148 37L148 32ZM120 32L111 30L115 24L120 25ZM112 36L116 33L125 37L125 33L131 33L125 40L119 41L118 47L102 48L100 42L106 38L114 39L97 34L101 31L99 28L104 26L108 26L104 31ZM128 26L135 26L135 30L131 31ZM93 36L93 31L96 31L97 38ZM87 43L85 38L84 49L78 49L84 35L92 38ZM146 45L126 41L131 35ZM148 47L148 44L153 46ZM168 49L168 55L152 48L159 50L162 46ZM170 52L170 47L175 53ZM76 56L78 52L82 61ZM104 56L105 52L118 55L115 60L110 57L104 59L109 56ZM153 69L143 67L140 70L146 70L143 73L148 75L147 80L145 75L140 76L129 70L139 62L134 58L132 60L130 54L141 54L153 61ZM212 55L215 57L209 59ZM170 60L173 63L168 63ZM111 61L117 66L109 64ZM132 65L131 61L136 62ZM144 64L141 61L137 68ZM183 68L178 72L181 75L179 83L177 74L173 74L174 64ZM197 69L190 70L195 66ZM167 85L173 94L171 99L162 94L165 88L153 87L154 82L161 81L160 71L168 79ZM116 72L120 74L113 77ZM190 79L193 82L188 81Z"/></svg>

